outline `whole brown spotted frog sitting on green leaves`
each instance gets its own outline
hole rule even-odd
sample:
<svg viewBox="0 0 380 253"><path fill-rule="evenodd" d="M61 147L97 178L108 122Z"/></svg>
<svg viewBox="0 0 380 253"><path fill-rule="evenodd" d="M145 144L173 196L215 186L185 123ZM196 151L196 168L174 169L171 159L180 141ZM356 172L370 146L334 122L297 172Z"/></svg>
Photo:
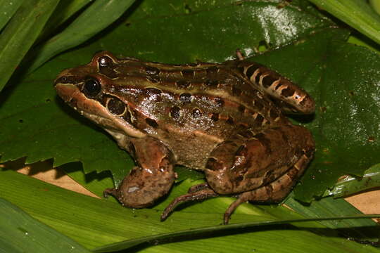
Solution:
<svg viewBox="0 0 380 253"><path fill-rule="evenodd" d="M203 171L205 182L172 200L161 221L177 205L209 197L236 197L224 224L244 202L279 203L315 153L311 132L286 117L312 115L315 101L239 51L222 63L179 65L101 51L88 64L63 70L54 86L135 161L105 197L150 207L170 192L177 164Z"/></svg>

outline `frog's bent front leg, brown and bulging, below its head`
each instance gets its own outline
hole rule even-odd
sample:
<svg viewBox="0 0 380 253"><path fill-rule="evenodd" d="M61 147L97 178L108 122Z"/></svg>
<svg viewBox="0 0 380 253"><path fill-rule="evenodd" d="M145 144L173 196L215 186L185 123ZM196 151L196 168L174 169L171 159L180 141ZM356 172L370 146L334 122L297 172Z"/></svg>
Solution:
<svg viewBox="0 0 380 253"><path fill-rule="evenodd" d="M129 149L134 151L138 166L125 176L117 189L108 188L103 194L115 196L127 207L148 207L166 195L175 181L172 153L155 138L134 139Z"/></svg>

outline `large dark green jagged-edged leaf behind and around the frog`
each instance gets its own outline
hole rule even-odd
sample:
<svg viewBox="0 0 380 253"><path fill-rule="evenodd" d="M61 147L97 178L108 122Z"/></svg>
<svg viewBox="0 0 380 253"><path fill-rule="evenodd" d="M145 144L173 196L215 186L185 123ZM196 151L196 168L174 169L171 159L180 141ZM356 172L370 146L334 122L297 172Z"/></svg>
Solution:
<svg viewBox="0 0 380 253"><path fill-rule="evenodd" d="M103 37L51 60L22 85L1 94L9 96L0 105L0 119L6 122L0 125L1 161L23 156L27 162L54 157L57 166L82 161L86 173L109 169L118 184L132 160L56 98L51 83L61 69L87 63L100 49L185 63L222 61L234 57L236 48L251 55L265 44L272 50L254 60L298 82L317 102L313 119L298 118L308 122L317 142L298 197L309 201L338 176L362 174L379 162L372 155L379 152L379 56L346 44L348 32L307 2L293 1L284 8L279 3L143 1Z"/></svg>

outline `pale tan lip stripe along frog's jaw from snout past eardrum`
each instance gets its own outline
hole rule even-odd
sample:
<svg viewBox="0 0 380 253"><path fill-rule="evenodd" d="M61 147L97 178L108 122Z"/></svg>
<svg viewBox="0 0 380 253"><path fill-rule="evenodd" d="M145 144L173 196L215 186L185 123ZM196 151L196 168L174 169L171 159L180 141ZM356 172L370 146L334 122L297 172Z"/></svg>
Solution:
<svg viewBox="0 0 380 253"><path fill-rule="evenodd" d="M55 87L58 96L60 96L65 103L68 103L70 107L74 108L77 112L80 112L84 117L96 122L96 124L100 124L106 129L115 129L115 131L124 132L127 136L136 138L146 136L145 133L135 129L121 117L111 114L98 101L84 96L77 86L73 84L58 83Z"/></svg>

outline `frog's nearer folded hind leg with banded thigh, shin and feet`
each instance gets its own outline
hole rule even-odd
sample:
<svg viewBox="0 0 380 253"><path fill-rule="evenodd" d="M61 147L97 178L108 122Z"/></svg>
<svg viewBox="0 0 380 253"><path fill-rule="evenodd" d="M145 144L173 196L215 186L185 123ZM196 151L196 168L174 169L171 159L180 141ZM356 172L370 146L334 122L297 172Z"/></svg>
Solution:
<svg viewBox="0 0 380 253"><path fill-rule="evenodd" d="M217 195L239 195L224 214L226 223L242 202L281 201L303 174L313 153L312 136L302 126L281 125L246 138L234 136L218 145L205 164L208 185L178 197L164 210L162 218L181 202Z"/></svg>

